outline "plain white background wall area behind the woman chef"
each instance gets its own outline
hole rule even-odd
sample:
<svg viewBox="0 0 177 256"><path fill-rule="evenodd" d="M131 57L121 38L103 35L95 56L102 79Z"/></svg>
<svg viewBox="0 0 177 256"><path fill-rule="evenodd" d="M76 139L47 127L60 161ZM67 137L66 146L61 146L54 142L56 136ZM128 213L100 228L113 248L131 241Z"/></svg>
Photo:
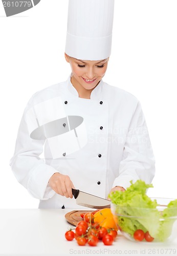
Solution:
<svg viewBox="0 0 177 256"><path fill-rule="evenodd" d="M0 208L37 208L13 176L17 130L36 91L64 81L68 1L41 0L6 17L0 3ZM176 0L115 0L112 55L104 81L134 94L146 117L156 177L148 195L177 198Z"/></svg>

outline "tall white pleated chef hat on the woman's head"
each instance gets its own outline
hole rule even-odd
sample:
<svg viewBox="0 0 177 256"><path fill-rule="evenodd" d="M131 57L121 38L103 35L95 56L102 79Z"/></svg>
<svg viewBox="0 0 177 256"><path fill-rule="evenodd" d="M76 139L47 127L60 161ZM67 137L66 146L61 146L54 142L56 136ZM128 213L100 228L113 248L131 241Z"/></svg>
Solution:
<svg viewBox="0 0 177 256"><path fill-rule="evenodd" d="M83 60L110 56L114 0L69 0L65 53Z"/></svg>

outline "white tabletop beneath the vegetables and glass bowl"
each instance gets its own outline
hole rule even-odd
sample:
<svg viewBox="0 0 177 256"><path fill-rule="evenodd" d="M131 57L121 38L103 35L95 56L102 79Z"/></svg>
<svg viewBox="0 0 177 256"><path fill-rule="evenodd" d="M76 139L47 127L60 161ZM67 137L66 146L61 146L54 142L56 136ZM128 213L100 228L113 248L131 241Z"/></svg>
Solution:
<svg viewBox="0 0 177 256"><path fill-rule="evenodd" d="M112 246L78 246L64 237L72 226L64 215L71 210L0 209L0 255L177 255L177 240L131 242L121 234Z"/></svg>

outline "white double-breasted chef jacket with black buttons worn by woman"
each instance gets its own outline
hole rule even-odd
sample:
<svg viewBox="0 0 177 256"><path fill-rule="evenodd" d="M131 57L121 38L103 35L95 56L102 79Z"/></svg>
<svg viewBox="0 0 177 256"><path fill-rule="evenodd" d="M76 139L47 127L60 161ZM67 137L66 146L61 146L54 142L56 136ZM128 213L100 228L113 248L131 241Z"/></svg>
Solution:
<svg viewBox="0 0 177 256"><path fill-rule="evenodd" d="M72 151L69 133L62 134L63 140L58 139L61 135L47 139L32 136L37 126L64 116L83 118L83 125L78 125L82 126L82 146ZM79 134L79 128L77 132ZM68 142L67 136L71 141ZM40 158L43 151L44 159ZM39 208L61 208L63 205L65 208L83 208L76 205L74 197L65 198L50 188L48 182L54 173L68 175L75 188L81 191L107 198L112 187L126 189L131 180L151 183L154 163L145 118L137 98L102 80L90 99L79 98L71 76L32 96L21 119L15 153L10 161L18 182L40 200Z"/></svg>

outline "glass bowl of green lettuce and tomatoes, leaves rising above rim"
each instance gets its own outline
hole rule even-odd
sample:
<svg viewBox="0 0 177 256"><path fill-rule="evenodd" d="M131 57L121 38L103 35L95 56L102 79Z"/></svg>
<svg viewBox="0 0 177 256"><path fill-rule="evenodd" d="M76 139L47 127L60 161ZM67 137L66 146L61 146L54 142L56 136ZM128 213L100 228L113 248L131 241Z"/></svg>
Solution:
<svg viewBox="0 0 177 256"><path fill-rule="evenodd" d="M131 241L164 242L177 237L177 199L150 198L152 184L136 181L125 191L109 194L114 220Z"/></svg>

